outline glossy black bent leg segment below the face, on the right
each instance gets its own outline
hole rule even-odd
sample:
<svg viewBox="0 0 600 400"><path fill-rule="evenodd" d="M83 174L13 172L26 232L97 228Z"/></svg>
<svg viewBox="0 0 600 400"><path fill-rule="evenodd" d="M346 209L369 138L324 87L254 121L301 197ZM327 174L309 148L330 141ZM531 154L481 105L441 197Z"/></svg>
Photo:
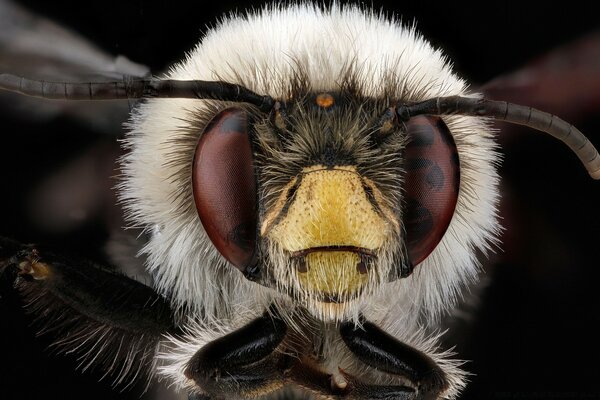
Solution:
<svg viewBox="0 0 600 400"><path fill-rule="evenodd" d="M340 334L346 346L359 360L380 371L405 377L415 385L415 397L398 397L399 399L437 399L448 388L446 374L431 358L400 342L373 323L364 321L362 326L357 327L352 322L346 322L341 325ZM373 398L380 398L381 392L392 390L390 388L393 387L381 386L378 389L377 386L371 386L369 391Z"/></svg>

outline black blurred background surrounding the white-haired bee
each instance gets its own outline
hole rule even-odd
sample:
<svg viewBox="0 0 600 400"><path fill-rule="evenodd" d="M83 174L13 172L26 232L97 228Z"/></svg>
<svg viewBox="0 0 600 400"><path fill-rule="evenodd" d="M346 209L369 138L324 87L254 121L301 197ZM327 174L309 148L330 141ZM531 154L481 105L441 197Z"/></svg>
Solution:
<svg viewBox="0 0 600 400"><path fill-rule="evenodd" d="M474 87L555 113L600 146L600 20L591 3L404 3L368 4L416 21ZM160 73L221 15L264 3L19 4ZM123 110L109 114L106 128L56 110L29 117L43 102L8 103L0 103L0 236L102 261L103 244L122 222L109 188ZM110 124L117 132L108 132ZM484 261L488 285L479 307L456 323L456 351L473 374L461 399L600 399L600 183L560 142L497 126L506 230L501 248ZM54 204L72 206L56 210L66 222L52 220ZM93 374L74 372L73 357L52 356L15 299L0 299L0 321L1 399L139 398L136 390L119 393Z"/></svg>

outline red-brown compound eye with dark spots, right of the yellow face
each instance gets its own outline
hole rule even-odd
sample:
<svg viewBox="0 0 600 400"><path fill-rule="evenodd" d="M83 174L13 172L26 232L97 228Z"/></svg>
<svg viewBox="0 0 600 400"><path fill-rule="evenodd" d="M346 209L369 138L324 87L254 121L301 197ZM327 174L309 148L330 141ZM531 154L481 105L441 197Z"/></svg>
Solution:
<svg viewBox="0 0 600 400"><path fill-rule="evenodd" d="M406 247L413 266L440 243L456 208L460 166L450 130L439 117L416 116L406 124Z"/></svg>

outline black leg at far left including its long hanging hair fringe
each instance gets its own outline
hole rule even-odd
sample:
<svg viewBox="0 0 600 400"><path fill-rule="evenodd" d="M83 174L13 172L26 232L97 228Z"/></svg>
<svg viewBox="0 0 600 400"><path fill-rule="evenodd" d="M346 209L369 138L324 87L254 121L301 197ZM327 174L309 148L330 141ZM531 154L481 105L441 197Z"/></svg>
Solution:
<svg viewBox="0 0 600 400"><path fill-rule="evenodd" d="M168 303L122 274L0 237L0 295L23 300L40 331L81 368L94 365L116 384L150 376L166 332L176 332ZM16 295L16 296L15 296ZM131 381L127 381L130 383Z"/></svg>

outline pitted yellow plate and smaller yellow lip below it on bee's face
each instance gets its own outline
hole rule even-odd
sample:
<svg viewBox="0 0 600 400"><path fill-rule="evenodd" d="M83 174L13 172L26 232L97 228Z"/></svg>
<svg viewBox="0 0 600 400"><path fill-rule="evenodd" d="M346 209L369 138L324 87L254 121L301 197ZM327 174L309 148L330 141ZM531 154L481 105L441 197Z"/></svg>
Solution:
<svg viewBox="0 0 600 400"><path fill-rule="evenodd" d="M285 215L278 217L298 179L293 178L284 188L261 227L261 233L283 249L292 253L327 246L376 250L393 230L369 201L352 166L305 168L293 202ZM376 201L379 196L374 193ZM368 281L368 275L358 271L361 260L357 252L319 249L303 257L307 271L298 272L298 278L311 291L344 297Z"/></svg>

